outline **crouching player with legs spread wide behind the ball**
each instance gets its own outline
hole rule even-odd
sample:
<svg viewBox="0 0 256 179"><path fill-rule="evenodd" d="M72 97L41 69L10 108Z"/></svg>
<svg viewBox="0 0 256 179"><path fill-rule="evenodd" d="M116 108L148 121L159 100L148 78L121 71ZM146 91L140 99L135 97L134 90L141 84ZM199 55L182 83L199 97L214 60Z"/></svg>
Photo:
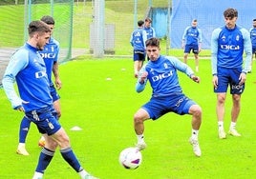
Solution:
<svg viewBox="0 0 256 179"><path fill-rule="evenodd" d="M182 93L178 70L197 83L200 82L200 78L195 76L193 70L178 58L160 55L158 38L150 38L146 41L146 52L150 61L139 71L136 89L137 92L141 92L149 81L153 94L150 101L134 115L134 128L138 138L137 148L139 150L146 148L143 135L145 120L157 120L167 112L175 112L179 115L190 114L192 115L192 134L189 142L193 146L195 155L200 157L202 153L198 134L202 123L202 109Z"/></svg>

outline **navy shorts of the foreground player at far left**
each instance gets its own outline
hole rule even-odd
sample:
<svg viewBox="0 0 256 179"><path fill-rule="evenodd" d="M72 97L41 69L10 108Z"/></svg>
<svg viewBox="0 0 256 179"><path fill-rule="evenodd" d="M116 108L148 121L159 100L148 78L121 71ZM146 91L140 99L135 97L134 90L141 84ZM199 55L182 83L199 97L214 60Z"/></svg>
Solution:
<svg viewBox="0 0 256 179"><path fill-rule="evenodd" d="M56 112L53 107L32 110L25 113L26 117L32 121L40 133L53 135L61 128L56 118Z"/></svg>

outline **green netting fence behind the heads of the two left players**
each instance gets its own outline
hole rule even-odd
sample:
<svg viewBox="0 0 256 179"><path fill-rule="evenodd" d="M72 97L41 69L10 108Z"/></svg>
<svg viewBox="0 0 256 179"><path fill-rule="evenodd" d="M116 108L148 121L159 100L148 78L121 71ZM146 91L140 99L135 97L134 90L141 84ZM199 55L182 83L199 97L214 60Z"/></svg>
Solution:
<svg viewBox="0 0 256 179"><path fill-rule="evenodd" d="M55 20L53 37L60 43L59 62L71 59L73 4L73 0L1 0L0 58L27 41L27 27L32 20L51 15Z"/></svg>

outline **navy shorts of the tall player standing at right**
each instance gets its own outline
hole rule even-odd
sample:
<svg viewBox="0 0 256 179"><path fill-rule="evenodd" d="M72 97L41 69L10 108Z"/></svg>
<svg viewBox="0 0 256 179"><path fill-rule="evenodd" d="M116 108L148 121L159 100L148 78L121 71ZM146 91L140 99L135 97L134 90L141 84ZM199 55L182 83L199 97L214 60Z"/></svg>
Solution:
<svg viewBox="0 0 256 179"><path fill-rule="evenodd" d="M230 94L242 94L245 90L245 84L239 85L241 72L242 69L218 68L218 87L214 89L214 92L226 92L230 86Z"/></svg>

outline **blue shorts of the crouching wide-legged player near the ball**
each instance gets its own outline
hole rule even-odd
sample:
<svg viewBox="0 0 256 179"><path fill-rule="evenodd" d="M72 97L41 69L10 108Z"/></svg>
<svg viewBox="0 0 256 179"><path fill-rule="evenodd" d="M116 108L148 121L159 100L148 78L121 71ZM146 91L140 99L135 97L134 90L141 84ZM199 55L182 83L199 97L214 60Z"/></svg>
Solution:
<svg viewBox="0 0 256 179"><path fill-rule="evenodd" d="M183 93L177 93L169 96L152 97L141 108L149 113L151 119L156 120L167 112L175 112L180 115L188 114L192 105L196 105L193 100Z"/></svg>

